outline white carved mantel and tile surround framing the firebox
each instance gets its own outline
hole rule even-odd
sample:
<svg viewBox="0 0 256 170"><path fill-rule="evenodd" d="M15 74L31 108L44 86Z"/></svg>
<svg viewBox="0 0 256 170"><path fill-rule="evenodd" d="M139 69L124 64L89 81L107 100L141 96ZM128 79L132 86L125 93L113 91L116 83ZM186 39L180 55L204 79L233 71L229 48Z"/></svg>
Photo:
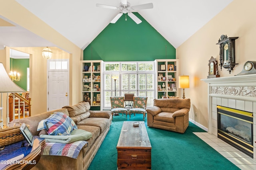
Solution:
<svg viewBox="0 0 256 170"><path fill-rule="evenodd" d="M216 106L253 113L253 152L256 160L256 74L202 79L208 83L208 133L217 136ZM254 116L255 115L255 116Z"/></svg>

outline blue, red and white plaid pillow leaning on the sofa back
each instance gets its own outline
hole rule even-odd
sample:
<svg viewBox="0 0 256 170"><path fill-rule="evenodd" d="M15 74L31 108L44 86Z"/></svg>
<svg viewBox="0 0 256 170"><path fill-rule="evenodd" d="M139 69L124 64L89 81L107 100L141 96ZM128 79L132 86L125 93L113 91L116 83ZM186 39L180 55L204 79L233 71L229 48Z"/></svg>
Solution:
<svg viewBox="0 0 256 170"><path fill-rule="evenodd" d="M77 127L70 117L64 113L57 112L39 122L37 130L40 131L42 129L46 129L48 135L70 135Z"/></svg>

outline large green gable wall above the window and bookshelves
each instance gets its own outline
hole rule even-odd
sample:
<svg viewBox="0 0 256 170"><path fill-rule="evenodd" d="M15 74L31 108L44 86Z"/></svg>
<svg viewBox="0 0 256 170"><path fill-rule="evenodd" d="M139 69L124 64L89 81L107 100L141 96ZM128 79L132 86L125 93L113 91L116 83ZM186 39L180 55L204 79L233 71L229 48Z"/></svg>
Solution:
<svg viewBox="0 0 256 170"><path fill-rule="evenodd" d="M134 15L140 18L142 23L136 24L128 15L123 14L116 23L109 23L84 49L84 60L176 59L176 49L140 14L134 12Z"/></svg>

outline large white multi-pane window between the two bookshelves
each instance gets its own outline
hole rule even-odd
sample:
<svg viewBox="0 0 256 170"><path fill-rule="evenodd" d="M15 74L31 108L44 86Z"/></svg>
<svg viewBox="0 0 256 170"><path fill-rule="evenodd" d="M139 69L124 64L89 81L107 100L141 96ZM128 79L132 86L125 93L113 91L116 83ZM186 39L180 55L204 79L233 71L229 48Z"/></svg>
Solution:
<svg viewBox="0 0 256 170"><path fill-rule="evenodd" d="M121 66L121 67L120 67ZM153 62L105 62L104 63L103 109L110 109L110 96L147 96L147 107L154 101L154 63ZM112 78L117 76L116 81Z"/></svg>

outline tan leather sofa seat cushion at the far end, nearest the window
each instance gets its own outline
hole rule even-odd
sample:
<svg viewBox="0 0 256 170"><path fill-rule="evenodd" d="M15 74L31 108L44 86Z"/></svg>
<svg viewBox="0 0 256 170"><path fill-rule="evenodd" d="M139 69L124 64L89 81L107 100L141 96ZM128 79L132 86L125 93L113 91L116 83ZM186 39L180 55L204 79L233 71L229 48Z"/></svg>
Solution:
<svg viewBox="0 0 256 170"><path fill-rule="evenodd" d="M77 125L88 125L88 126L96 126L100 127L100 133L104 131L104 129L108 128L109 120L106 118L100 117L89 117L77 123Z"/></svg>

